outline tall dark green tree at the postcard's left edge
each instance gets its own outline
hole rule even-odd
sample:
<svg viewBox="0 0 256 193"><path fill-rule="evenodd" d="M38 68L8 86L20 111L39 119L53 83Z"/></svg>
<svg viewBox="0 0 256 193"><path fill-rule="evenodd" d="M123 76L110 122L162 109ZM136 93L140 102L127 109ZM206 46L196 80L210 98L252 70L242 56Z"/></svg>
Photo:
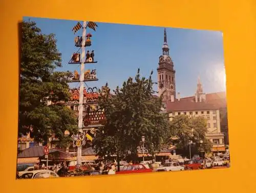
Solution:
<svg viewBox="0 0 256 193"><path fill-rule="evenodd" d="M71 109L57 103L70 99L71 74L54 71L61 67L55 36L42 34L35 22L23 22L21 51L18 134L30 132L35 141L46 142L54 133L67 145L64 132L76 132L77 121Z"/></svg>

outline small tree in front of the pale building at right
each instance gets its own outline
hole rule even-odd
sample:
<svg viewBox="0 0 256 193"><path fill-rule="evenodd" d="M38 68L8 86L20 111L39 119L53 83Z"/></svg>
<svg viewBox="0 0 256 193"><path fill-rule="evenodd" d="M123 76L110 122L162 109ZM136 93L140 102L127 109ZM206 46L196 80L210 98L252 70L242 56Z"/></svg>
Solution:
<svg viewBox="0 0 256 193"><path fill-rule="evenodd" d="M211 143L206 139L207 123L203 117L191 117L187 115L177 115L170 122L170 132L172 138L170 143L175 144L176 148L184 155L189 155L189 141L193 142L191 150L193 153L200 151L208 152L211 150Z"/></svg>

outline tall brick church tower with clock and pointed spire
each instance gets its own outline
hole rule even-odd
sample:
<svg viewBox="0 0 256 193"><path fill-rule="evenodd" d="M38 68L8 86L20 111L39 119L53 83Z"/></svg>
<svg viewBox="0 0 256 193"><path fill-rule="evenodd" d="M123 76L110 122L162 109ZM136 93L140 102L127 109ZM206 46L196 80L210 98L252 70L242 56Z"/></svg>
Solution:
<svg viewBox="0 0 256 193"><path fill-rule="evenodd" d="M169 47L167 44L166 29L164 28L164 43L162 46L162 55L159 56L158 63L158 95L163 92L163 101L172 101L176 99L175 70L172 58L169 56Z"/></svg>

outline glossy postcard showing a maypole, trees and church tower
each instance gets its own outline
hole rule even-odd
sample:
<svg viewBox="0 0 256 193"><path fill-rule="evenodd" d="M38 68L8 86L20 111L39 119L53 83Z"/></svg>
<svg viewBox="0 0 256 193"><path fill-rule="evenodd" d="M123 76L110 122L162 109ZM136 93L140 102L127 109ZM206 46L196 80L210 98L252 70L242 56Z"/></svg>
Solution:
<svg viewBox="0 0 256 193"><path fill-rule="evenodd" d="M20 32L16 179L230 167L222 32L35 17Z"/></svg>

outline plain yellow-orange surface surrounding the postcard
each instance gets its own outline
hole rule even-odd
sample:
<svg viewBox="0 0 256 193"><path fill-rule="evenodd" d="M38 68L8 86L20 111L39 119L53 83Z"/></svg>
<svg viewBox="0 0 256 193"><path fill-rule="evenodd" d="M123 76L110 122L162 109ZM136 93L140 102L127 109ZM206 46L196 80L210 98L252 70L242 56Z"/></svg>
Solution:
<svg viewBox="0 0 256 193"><path fill-rule="evenodd" d="M112 177L15 180L19 56L17 22L22 21L23 16L223 31L231 168ZM1 192L255 192L255 0L1 0L0 18Z"/></svg>

